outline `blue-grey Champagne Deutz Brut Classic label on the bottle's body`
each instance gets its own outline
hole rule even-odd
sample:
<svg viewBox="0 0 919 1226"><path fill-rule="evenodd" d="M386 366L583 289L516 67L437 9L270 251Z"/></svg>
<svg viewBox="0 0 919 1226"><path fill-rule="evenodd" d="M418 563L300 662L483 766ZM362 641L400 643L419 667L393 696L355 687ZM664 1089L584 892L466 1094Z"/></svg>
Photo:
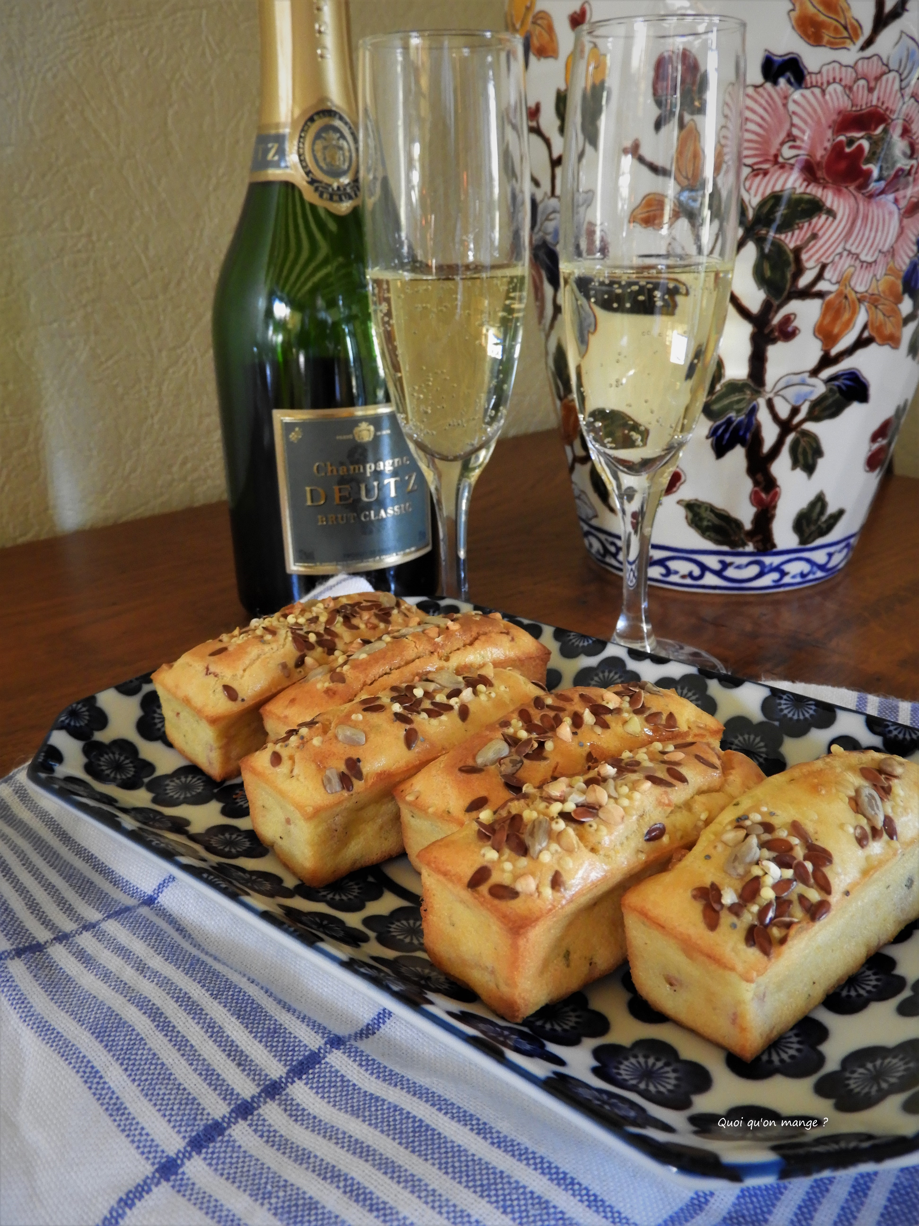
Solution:
<svg viewBox="0 0 919 1226"><path fill-rule="evenodd" d="M273 417L289 574L376 570L430 549L428 485L391 405Z"/></svg>

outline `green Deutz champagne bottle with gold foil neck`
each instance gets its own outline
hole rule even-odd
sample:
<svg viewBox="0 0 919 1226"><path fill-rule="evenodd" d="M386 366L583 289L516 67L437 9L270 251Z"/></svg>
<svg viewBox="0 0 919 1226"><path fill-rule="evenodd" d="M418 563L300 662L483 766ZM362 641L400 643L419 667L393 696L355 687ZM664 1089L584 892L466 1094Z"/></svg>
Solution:
<svg viewBox="0 0 919 1226"><path fill-rule="evenodd" d="M213 305L239 596L261 615L346 570L431 593L430 495L371 327L347 0L259 4L259 132Z"/></svg>

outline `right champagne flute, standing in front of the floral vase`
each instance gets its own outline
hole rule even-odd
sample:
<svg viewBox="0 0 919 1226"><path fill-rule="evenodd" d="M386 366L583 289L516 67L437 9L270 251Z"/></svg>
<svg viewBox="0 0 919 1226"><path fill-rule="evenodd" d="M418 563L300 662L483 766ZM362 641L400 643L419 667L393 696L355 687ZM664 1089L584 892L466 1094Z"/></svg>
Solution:
<svg viewBox="0 0 919 1226"><path fill-rule="evenodd" d="M654 638L648 552L708 389L738 239L745 23L615 17L575 38L561 169L565 348L577 413L622 528L614 641Z"/></svg>

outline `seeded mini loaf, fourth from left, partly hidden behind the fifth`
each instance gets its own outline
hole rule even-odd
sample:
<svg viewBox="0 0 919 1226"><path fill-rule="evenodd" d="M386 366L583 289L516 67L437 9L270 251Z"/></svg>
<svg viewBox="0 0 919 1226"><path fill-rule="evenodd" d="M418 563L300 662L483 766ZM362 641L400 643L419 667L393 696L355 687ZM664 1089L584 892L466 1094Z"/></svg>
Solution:
<svg viewBox="0 0 919 1226"><path fill-rule="evenodd" d="M581 775L656 742L670 754L659 782L667 790L681 779L686 756L712 760L708 747L717 747L723 732L674 690L649 683L538 695L396 788L406 851L418 868L422 847L518 796L524 783Z"/></svg>

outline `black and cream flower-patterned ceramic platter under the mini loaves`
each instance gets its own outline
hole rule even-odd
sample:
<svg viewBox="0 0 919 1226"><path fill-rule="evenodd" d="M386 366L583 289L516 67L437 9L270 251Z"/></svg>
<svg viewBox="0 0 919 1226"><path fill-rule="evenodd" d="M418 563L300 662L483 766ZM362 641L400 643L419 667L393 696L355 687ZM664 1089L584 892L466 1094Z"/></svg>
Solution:
<svg viewBox="0 0 919 1226"><path fill-rule="evenodd" d="M512 620L551 649L550 689L635 679L674 688L724 723L725 749L767 775L833 743L919 760L919 729ZM500 1060L562 1114L580 1112L652 1162L762 1181L908 1165L919 1148L917 924L744 1064L651 1009L627 964L520 1025L502 1021L428 961L420 883L406 857L322 889L303 885L255 837L240 781L217 785L172 748L149 676L69 706L29 779L295 937L304 956L331 959L419 1024L450 1032L469 1059Z"/></svg>

